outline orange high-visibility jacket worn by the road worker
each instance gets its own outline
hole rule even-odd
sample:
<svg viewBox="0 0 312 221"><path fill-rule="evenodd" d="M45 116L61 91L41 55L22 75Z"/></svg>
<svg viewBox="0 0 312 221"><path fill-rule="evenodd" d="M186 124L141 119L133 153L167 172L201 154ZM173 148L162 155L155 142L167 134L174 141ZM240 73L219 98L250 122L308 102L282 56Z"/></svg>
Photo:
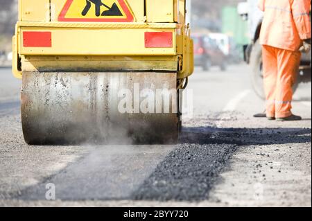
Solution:
<svg viewBox="0 0 312 221"><path fill-rule="evenodd" d="M310 0L259 0L264 12L260 44L297 51L311 38Z"/></svg>

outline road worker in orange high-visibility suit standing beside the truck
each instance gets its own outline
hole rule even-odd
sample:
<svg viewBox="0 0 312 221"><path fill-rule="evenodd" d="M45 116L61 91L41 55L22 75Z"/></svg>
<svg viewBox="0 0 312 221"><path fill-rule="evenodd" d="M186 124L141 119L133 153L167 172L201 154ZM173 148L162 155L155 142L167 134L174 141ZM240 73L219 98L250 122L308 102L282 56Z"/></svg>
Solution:
<svg viewBox="0 0 312 221"><path fill-rule="evenodd" d="M300 121L292 112L293 85L301 52L311 49L310 0L259 0L264 12L260 33L266 116L269 120Z"/></svg>

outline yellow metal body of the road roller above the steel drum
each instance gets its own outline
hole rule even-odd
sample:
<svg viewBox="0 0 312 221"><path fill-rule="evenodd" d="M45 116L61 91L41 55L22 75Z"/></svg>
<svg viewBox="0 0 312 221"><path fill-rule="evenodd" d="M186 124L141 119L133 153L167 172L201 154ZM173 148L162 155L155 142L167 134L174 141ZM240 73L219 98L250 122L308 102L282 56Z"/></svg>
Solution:
<svg viewBox="0 0 312 221"><path fill-rule="evenodd" d="M58 21L66 3L67 0L19 0L19 21L13 37L15 77L21 78L22 71L49 67L72 71L72 67L78 70L80 65L90 71L92 67L177 71L179 79L193 73L193 42L184 22L185 0L128 0L131 22ZM51 46L25 46L24 33L31 32L51 33ZM161 32L172 33L172 46L146 47L145 34ZM127 64L120 65L123 63Z"/></svg>

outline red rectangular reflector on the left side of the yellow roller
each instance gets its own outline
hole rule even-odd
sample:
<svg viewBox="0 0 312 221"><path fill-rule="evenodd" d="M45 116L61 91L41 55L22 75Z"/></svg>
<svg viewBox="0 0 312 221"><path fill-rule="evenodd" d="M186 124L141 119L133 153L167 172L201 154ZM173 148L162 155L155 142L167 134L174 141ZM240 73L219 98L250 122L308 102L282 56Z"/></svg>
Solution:
<svg viewBox="0 0 312 221"><path fill-rule="evenodd" d="M52 46L51 32L24 31L23 46L36 48L50 48Z"/></svg>

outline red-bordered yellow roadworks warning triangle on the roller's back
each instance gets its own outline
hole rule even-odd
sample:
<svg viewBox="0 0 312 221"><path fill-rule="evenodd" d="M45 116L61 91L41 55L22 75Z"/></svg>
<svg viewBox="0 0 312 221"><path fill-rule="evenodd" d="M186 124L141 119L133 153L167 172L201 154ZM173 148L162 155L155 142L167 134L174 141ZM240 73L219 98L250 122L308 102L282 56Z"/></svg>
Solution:
<svg viewBox="0 0 312 221"><path fill-rule="evenodd" d="M58 21L132 22L126 0L67 0Z"/></svg>

